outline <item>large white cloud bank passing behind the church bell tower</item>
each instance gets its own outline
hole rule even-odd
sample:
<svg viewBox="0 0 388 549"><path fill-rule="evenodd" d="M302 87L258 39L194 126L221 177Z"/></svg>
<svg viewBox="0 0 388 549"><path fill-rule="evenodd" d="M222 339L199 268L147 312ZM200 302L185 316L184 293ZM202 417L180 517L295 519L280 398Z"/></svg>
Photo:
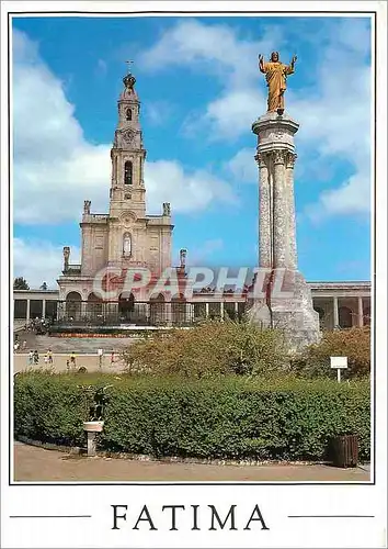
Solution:
<svg viewBox="0 0 388 549"><path fill-rule="evenodd" d="M92 211L106 212L111 145L85 139L64 82L19 31L13 33L13 64L14 221L79 220L83 200L92 201ZM205 171L190 173L174 160L147 163L146 188L151 213L164 201L175 212L190 212L231 197L227 183Z"/></svg>

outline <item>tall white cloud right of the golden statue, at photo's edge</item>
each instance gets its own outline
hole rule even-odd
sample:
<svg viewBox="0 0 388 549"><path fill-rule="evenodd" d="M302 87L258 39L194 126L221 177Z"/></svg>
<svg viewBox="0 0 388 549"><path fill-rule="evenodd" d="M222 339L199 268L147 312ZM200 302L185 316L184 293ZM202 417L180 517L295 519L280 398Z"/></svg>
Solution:
<svg viewBox="0 0 388 549"><path fill-rule="evenodd" d="M315 148L323 167L341 159L353 171L307 208L315 220L368 214L370 209L370 68L365 61L368 33L361 21L342 21L339 34L330 38L320 59L318 86L290 98L301 123L298 136L304 149L308 153Z"/></svg>

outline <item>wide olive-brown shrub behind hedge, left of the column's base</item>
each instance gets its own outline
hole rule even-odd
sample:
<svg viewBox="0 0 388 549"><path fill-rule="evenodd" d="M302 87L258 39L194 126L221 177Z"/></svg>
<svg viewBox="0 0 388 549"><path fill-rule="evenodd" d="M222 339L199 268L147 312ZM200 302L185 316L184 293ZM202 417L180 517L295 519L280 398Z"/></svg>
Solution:
<svg viewBox="0 0 388 549"><path fill-rule="evenodd" d="M190 329L158 334L132 345L123 358L129 372L194 378L258 374L288 368L281 332L233 321L204 321Z"/></svg>

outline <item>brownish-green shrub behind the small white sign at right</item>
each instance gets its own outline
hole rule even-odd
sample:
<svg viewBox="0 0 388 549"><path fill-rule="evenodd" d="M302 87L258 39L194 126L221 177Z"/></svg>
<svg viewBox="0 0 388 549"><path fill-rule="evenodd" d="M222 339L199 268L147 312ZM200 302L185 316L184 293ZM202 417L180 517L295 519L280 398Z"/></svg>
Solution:
<svg viewBox="0 0 388 549"><path fill-rule="evenodd" d="M347 357L347 369L344 379L355 379L370 373L370 328L354 327L323 332L318 345L308 347L295 365L303 374L310 377L335 377L336 371L330 369L330 357Z"/></svg>

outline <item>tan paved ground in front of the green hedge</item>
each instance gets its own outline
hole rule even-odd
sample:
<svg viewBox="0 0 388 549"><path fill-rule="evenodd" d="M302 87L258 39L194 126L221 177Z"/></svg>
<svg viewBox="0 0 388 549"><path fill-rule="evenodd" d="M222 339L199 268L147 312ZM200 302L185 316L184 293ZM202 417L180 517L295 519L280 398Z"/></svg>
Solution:
<svg viewBox="0 0 388 549"><path fill-rule="evenodd" d="M338 469L329 466L220 466L169 463L116 458L87 458L57 450L46 450L21 442L14 445L15 481L369 481L367 470Z"/></svg>

